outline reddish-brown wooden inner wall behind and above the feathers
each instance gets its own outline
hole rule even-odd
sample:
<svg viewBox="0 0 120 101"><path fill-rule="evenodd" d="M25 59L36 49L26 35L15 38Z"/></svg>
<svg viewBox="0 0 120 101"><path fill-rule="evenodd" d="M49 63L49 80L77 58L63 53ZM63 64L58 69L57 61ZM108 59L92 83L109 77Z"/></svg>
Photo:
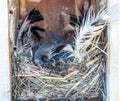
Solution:
<svg viewBox="0 0 120 101"><path fill-rule="evenodd" d="M100 0L9 0L9 14L12 18L10 23L14 23L9 29L10 36L14 36L12 40L15 42L18 22L23 21L33 8L37 8L44 17L44 20L36 23L36 25L57 33L65 26L62 12L81 15L78 11L78 5L82 8L82 5L86 2L89 6L93 5L97 12L103 5L107 5L107 0L103 1L100 4Z"/></svg>

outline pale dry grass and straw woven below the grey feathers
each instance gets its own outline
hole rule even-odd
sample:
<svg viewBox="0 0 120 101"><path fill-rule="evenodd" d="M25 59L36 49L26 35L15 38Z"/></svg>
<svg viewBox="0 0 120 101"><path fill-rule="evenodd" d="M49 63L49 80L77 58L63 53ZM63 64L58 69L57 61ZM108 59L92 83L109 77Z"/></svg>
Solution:
<svg viewBox="0 0 120 101"><path fill-rule="evenodd" d="M86 42L84 50L89 49L86 51L84 63L80 63L79 68L67 71L64 76L40 69L34 66L30 59L22 60L14 57L12 64L13 98L102 97L101 94L105 94L106 55L97 48L102 47L101 49L106 50L107 43L101 39L102 35L93 38L94 45ZM100 45L101 42L104 44ZM72 65L69 68L71 67Z"/></svg>

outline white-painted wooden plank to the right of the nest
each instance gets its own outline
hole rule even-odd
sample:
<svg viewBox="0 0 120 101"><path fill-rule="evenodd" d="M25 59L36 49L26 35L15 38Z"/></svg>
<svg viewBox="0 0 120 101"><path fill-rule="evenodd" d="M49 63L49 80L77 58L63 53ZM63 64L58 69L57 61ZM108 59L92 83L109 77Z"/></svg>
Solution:
<svg viewBox="0 0 120 101"><path fill-rule="evenodd" d="M119 0L108 0L108 8L117 4L120 6ZM119 10L116 11L116 16L120 15ZM120 19L110 23L108 29L109 42L109 58L107 68L107 101L120 101Z"/></svg>

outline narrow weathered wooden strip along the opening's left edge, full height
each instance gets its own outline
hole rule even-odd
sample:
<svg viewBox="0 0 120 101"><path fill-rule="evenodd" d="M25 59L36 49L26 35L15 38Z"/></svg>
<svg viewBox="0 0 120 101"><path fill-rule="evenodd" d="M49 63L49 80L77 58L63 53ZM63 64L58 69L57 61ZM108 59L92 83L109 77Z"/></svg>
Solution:
<svg viewBox="0 0 120 101"><path fill-rule="evenodd" d="M19 19L19 0L9 0L8 1L8 46L9 46L9 51L8 51L8 58L9 58L9 72L10 76L12 74L12 66L11 66L11 53L12 49L15 46L16 42L16 35L17 35L17 22ZM11 44L12 43L12 44ZM11 78L12 79L12 78ZM12 81L10 79L10 82ZM10 86L12 87L12 82L10 83ZM12 100L12 88L10 91L11 94L11 99Z"/></svg>

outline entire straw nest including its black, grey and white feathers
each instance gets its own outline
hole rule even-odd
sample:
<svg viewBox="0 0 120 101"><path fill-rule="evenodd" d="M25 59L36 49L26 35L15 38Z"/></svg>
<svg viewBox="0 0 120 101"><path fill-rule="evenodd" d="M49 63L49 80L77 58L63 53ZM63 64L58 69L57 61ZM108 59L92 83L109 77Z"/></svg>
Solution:
<svg viewBox="0 0 120 101"><path fill-rule="evenodd" d="M35 26L44 20L37 9L26 16L12 45L13 99L105 100L106 9L69 16L69 35Z"/></svg>

